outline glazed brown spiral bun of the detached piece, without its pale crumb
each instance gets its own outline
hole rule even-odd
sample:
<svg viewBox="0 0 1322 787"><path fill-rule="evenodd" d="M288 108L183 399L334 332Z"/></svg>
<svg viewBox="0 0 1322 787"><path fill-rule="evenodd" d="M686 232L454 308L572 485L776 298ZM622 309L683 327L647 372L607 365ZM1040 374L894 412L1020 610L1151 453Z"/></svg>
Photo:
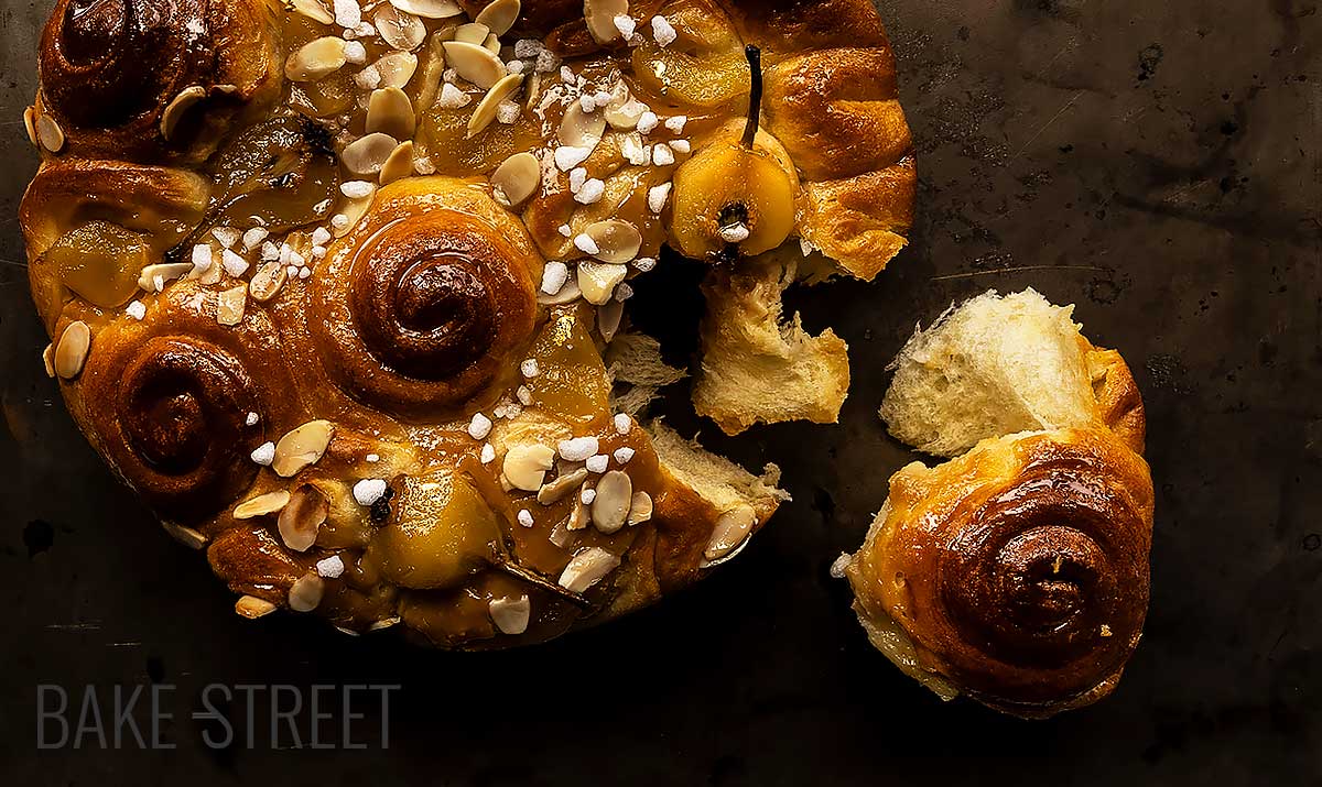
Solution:
<svg viewBox="0 0 1322 787"><path fill-rule="evenodd" d="M896 474L850 580L911 667L1048 716L1108 693L1138 644L1151 516L1146 463L1110 432L1003 437Z"/></svg>

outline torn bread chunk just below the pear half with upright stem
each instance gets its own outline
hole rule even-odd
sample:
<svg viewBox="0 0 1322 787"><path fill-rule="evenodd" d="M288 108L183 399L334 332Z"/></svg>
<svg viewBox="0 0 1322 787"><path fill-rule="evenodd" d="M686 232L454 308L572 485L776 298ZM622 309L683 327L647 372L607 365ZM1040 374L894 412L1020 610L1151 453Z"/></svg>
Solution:
<svg viewBox="0 0 1322 787"><path fill-rule="evenodd" d="M839 417L849 395L849 346L832 330L808 334L797 314L781 320L781 294L795 276L795 261L771 252L717 272L702 287L707 316L693 403L727 434L759 423L834 424Z"/></svg>

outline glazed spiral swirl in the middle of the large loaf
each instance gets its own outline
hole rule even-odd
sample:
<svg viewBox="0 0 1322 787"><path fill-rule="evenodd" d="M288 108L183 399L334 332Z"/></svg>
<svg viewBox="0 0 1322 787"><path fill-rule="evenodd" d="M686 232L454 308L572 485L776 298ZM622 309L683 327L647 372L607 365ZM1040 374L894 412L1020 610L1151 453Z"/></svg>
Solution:
<svg viewBox="0 0 1322 787"><path fill-rule="evenodd" d="M315 345L369 407L449 412L517 372L542 261L522 226L461 181L403 181L379 201L317 271Z"/></svg>

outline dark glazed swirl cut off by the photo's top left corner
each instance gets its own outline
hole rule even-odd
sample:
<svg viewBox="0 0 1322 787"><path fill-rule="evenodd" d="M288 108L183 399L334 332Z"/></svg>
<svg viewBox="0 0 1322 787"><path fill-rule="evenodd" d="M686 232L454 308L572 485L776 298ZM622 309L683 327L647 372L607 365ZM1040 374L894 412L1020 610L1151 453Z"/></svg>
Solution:
<svg viewBox="0 0 1322 787"><path fill-rule="evenodd" d="M41 111L78 153L205 157L226 116L278 91L272 30L258 0L61 0L42 33ZM189 88L206 111L167 140L161 120Z"/></svg>

